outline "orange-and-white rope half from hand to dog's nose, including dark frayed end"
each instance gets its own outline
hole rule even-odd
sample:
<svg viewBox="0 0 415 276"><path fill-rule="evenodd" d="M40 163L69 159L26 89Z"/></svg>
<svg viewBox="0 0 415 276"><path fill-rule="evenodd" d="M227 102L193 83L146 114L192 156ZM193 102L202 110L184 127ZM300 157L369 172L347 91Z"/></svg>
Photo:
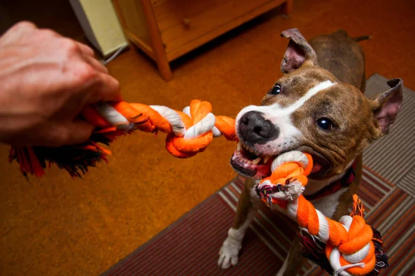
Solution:
<svg viewBox="0 0 415 276"><path fill-rule="evenodd" d="M134 130L144 132L166 132L166 149L174 157L187 158L203 152L213 137L223 136L238 141L235 121L230 117L214 116L208 101L193 100L183 112L166 106L147 106L142 103L100 103L86 106L82 119L95 131L84 144L47 147L12 147L9 161L16 159L24 175L44 175L44 168L57 164L72 177L81 177L81 172L96 166L100 160L107 161L111 152L99 145L109 145L116 137Z"/></svg>

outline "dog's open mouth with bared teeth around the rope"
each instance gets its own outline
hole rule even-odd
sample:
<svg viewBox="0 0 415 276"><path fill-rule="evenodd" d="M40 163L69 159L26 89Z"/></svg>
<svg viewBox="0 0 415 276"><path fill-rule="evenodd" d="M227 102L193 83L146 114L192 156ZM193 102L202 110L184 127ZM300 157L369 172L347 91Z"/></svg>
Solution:
<svg viewBox="0 0 415 276"><path fill-rule="evenodd" d="M304 152L306 151L307 150L304 150ZM326 168L325 162L324 160L320 161L320 158L316 158L313 153L309 153L313 156L314 161L311 173L317 175ZM237 173L239 173L239 175L245 177L269 177L271 175L271 164L273 164L276 157L277 155L258 155L248 148L248 146L239 142L237 149L230 159L230 165Z"/></svg>

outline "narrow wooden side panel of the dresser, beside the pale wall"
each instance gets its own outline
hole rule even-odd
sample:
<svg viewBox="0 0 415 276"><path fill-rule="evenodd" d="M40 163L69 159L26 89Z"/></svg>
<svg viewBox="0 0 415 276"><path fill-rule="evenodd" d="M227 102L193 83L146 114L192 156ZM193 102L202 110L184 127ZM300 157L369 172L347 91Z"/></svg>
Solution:
<svg viewBox="0 0 415 276"><path fill-rule="evenodd" d="M124 30L128 31L126 32L127 37L129 36L128 34L133 34L142 43L152 48L145 14L142 10L140 0L117 0L114 3L116 3L114 6L118 8L120 21Z"/></svg>

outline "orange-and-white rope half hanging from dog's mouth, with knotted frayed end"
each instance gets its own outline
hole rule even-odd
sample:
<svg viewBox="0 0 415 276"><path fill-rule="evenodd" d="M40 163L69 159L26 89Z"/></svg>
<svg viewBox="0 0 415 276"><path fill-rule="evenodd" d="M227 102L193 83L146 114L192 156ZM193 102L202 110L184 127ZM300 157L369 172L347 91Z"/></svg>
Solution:
<svg viewBox="0 0 415 276"><path fill-rule="evenodd" d="M378 275L388 266L378 230L365 223L363 204L353 195L353 212L333 221L316 210L302 195L313 159L299 151L279 155L271 164L272 174L255 185L268 206L283 208L297 222L303 255L337 276ZM324 248L325 244L325 249Z"/></svg>

